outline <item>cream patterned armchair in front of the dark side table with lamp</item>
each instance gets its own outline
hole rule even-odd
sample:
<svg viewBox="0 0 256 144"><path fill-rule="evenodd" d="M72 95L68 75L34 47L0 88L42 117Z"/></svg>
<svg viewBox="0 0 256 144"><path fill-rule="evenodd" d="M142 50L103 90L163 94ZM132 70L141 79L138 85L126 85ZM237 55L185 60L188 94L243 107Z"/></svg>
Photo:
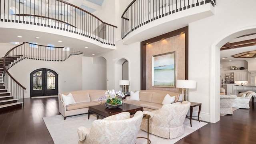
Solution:
<svg viewBox="0 0 256 144"><path fill-rule="evenodd" d="M151 117L149 130L147 119L142 120L140 129L162 138L177 138L184 134L183 122L189 108L190 102L184 101L164 104L159 110L144 111L144 114L149 114Z"/></svg>

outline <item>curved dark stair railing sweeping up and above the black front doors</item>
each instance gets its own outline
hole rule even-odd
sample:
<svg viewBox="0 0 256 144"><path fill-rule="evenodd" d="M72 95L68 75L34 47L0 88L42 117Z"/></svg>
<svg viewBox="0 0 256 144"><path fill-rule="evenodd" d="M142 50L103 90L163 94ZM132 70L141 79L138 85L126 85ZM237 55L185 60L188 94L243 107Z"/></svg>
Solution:
<svg viewBox="0 0 256 144"><path fill-rule="evenodd" d="M68 47L42 46L23 42L9 50L4 56L4 84L8 92L18 99L18 102L24 103L26 88L8 72L12 66L24 59L63 62L70 56L78 54L82 54L82 52Z"/></svg>

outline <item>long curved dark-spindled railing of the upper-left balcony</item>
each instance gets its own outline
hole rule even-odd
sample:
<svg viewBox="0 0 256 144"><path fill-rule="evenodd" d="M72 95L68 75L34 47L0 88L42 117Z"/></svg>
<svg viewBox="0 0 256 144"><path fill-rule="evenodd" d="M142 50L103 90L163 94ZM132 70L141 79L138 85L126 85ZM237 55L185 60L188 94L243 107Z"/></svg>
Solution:
<svg viewBox="0 0 256 144"><path fill-rule="evenodd" d="M116 26L62 0L0 0L0 21L72 32L115 46Z"/></svg>

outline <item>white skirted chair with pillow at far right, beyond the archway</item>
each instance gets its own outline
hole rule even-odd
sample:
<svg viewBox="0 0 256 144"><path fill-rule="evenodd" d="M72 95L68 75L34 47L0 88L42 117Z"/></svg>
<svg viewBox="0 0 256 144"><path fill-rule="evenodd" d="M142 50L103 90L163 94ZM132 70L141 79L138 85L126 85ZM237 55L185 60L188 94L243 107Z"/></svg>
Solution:
<svg viewBox="0 0 256 144"><path fill-rule="evenodd" d="M237 95L237 98L234 99L233 108L247 108L249 109L249 102L252 96L256 96L255 92L247 91L241 92Z"/></svg>

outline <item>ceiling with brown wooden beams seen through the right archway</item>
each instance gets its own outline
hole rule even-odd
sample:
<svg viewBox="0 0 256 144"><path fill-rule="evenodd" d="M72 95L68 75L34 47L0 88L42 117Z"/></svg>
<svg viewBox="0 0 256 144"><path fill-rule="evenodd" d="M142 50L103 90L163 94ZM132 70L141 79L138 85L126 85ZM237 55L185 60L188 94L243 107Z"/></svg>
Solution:
<svg viewBox="0 0 256 144"><path fill-rule="evenodd" d="M245 36L240 36L238 38L234 38L227 42L220 49L220 62L232 62L241 61L241 60L249 60L255 59L255 55L250 55L252 58L234 58L232 55L240 54L243 52L250 52L256 50L256 34L248 34ZM224 58L224 59L223 59Z"/></svg>

